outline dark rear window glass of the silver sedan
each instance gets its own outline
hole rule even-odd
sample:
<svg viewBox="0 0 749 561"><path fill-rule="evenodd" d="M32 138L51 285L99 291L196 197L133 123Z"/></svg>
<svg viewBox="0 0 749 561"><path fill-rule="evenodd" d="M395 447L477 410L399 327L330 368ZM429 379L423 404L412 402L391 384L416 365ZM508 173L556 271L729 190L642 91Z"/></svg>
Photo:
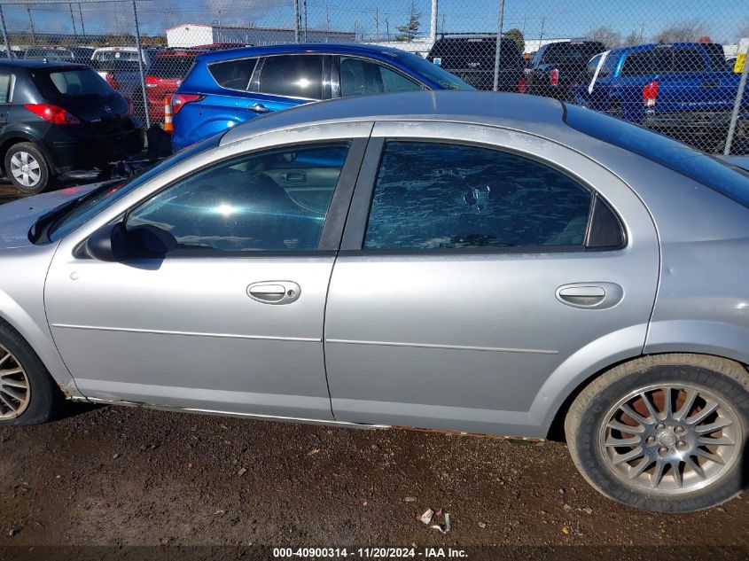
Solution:
<svg viewBox="0 0 749 561"><path fill-rule="evenodd" d="M668 136L576 105L565 105L565 122L605 143L673 169L749 208L749 173Z"/></svg>

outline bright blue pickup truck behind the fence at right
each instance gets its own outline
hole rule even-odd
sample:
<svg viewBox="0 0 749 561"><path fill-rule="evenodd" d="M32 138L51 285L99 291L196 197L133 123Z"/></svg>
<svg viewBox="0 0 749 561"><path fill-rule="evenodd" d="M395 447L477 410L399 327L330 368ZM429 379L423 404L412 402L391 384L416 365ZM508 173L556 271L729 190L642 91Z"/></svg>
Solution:
<svg viewBox="0 0 749 561"><path fill-rule="evenodd" d="M646 44L590 59L573 100L600 113L674 136L702 150L722 150L740 75L716 43ZM741 105L735 140L749 136L749 96Z"/></svg>

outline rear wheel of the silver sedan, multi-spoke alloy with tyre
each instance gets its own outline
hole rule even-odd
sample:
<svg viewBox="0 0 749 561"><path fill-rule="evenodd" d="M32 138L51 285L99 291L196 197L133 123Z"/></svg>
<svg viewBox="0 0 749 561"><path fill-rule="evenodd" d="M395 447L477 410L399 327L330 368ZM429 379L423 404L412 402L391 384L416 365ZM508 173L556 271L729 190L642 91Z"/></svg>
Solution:
<svg viewBox="0 0 749 561"><path fill-rule="evenodd" d="M701 510L746 486L749 374L707 355L653 355L597 378L573 401L574 464L604 495L661 512Z"/></svg>

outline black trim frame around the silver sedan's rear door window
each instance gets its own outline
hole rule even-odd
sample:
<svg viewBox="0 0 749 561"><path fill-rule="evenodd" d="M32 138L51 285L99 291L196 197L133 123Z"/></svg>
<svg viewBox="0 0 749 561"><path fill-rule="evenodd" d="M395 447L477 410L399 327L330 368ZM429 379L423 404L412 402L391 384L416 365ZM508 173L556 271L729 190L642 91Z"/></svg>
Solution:
<svg viewBox="0 0 749 561"><path fill-rule="evenodd" d="M495 152L510 153L527 160L534 160L544 166L552 168L562 175L570 178L573 182L578 183L582 188L590 191L590 206L588 211L588 222L585 226L585 233L583 236L582 245L519 245L511 247L456 247L456 248L364 248L364 236L366 235L367 225L369 223L371 203L374 196L374 190L377 183L377 176L382 161L382 157L385 154L386 142L413 142L413 143L428 143L428 144L458 144L469 146L473 148L484 148L493 150ZM612 213L617 218L620 229L622 244L620 246L604 246L604 247L588 247L584 245L589 239L589 230L593 218L593 208L596 203L597 197L601 197L605 203L612 209ZM513 150L508 147L499 147L495 144L481 143L472 140L464 139L447 139L447 138L433 138L433 137L417 137L417 136L372 136L370 143L367 146L367 151L364 154L361 171L356 181L356 187L354 191L354 198L351 201L351 208L348 212L348 220L346 227L343 232L343 240L340 245L340 252L345 255L351 256L364 256L364 255L464 255L464 254L511 254L511 253L527 253L527 254L542 254L542 253L600 253L600 252L612 252L621 251L628 247L629 239L627 235L627 229L624 226L624 222L621 220L619 213L616 209L605 199L605 197L597 191L587 181L583 180L577 175L572 175L565 169L559 168L554 162L550 160L543 160L538 158L534 154L527 152L521 152Z"/></svg>

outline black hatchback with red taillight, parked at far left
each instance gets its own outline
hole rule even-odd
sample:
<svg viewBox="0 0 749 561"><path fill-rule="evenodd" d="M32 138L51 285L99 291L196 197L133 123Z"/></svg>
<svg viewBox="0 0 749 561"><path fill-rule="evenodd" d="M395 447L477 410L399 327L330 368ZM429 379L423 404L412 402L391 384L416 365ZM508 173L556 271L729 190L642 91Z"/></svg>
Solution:
<svg viewBox="0 0 749 561"><path fill-rule="evenodd" d="M38 193L66 172L140 152L140 126L89 66L0 61L0 161L20 191Z"/></svg>

